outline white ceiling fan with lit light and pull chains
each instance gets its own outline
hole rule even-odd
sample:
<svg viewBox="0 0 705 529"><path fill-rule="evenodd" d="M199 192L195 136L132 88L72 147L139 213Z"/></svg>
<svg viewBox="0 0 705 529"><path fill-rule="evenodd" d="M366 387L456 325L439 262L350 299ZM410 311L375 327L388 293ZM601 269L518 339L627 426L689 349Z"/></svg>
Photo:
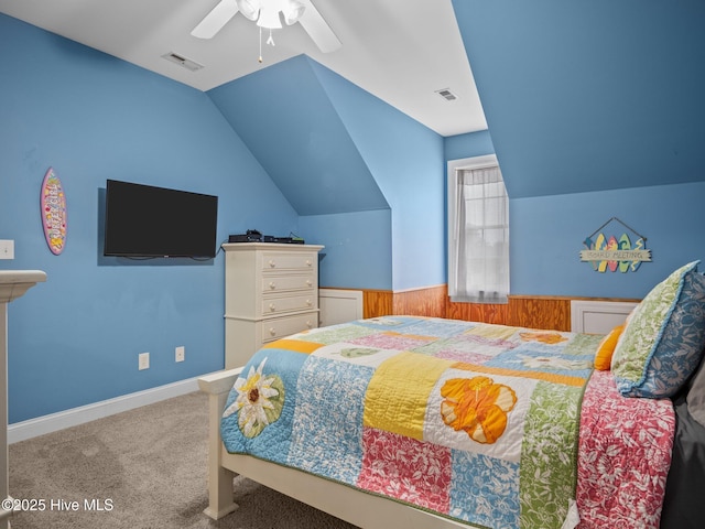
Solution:
<svg viewBox="0 0 705 529"><path fill-rule="evenodd" d="M288 25L296 22L303 25L323 53L335 52L343 45L311 0L220 0L191 34L213 39L238 11L256 21L260 29L269 30L282 28L283 14ZM273 43L271 39L270 33L268 43Z"/></svg>

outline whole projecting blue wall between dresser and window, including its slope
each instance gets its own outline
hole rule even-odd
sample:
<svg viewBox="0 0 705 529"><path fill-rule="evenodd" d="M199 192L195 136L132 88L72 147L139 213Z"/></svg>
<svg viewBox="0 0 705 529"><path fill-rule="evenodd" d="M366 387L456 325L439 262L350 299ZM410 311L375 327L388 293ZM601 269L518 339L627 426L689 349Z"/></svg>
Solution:
<svg viewBox="0 0 705 529"><path fill-rule="evenodd" d="M441 136L304 55L208 94L326 246L323 287L445 282Z"/></svg>

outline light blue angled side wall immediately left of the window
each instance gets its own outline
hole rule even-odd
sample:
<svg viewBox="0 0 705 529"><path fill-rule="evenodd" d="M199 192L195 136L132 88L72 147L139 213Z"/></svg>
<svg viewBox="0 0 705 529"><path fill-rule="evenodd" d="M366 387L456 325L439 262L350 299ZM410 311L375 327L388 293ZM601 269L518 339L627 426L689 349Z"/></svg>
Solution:
<svg viewBox="0 0 705 529"><path fill-rule="evenodd" d="M334 72L314 67L391 208L391 284L379 288L445 283L443 138ZM352 229L369 231L367 226ZM360 259L371 259L371 251L360 248L347 271L359 267ZM339 273L333 285L365 285L349 284L347 277Z"/></svg>

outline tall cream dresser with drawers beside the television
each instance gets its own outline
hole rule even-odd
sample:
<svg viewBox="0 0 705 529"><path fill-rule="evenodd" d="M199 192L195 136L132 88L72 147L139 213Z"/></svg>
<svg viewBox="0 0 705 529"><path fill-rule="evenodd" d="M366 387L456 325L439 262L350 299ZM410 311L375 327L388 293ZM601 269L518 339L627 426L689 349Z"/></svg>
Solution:
<svg viewBox="0 0 705 529"><path fill-rule="evenodd" d="M235 242L225 250L225 368L263 344L318 326L323 246Z"/></svg>

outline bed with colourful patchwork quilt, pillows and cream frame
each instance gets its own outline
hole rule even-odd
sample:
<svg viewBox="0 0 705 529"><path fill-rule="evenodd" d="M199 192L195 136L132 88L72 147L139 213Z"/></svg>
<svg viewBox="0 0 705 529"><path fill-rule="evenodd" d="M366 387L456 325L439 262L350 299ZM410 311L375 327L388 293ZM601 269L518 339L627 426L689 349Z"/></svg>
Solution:
<svg viewBox="0 0 705 529"><path fill-rule="evenodd" d="M607 336L394 315L272 342L199 379L206 514L237 473L364 528L658 528L703 345L697 262Z"/></svg>

